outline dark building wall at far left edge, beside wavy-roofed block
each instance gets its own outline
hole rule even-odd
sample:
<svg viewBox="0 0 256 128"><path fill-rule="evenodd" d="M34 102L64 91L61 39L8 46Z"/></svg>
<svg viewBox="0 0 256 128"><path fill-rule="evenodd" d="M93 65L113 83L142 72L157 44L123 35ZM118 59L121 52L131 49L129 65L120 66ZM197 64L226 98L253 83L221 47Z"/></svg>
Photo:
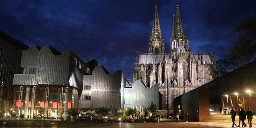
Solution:
<svg viewBox="0 0 256 128"><path fill-rule="evenodd" d="M28 46L0 31L0 83L12 84L14 74L22 73L22 49Z"/></svg>

